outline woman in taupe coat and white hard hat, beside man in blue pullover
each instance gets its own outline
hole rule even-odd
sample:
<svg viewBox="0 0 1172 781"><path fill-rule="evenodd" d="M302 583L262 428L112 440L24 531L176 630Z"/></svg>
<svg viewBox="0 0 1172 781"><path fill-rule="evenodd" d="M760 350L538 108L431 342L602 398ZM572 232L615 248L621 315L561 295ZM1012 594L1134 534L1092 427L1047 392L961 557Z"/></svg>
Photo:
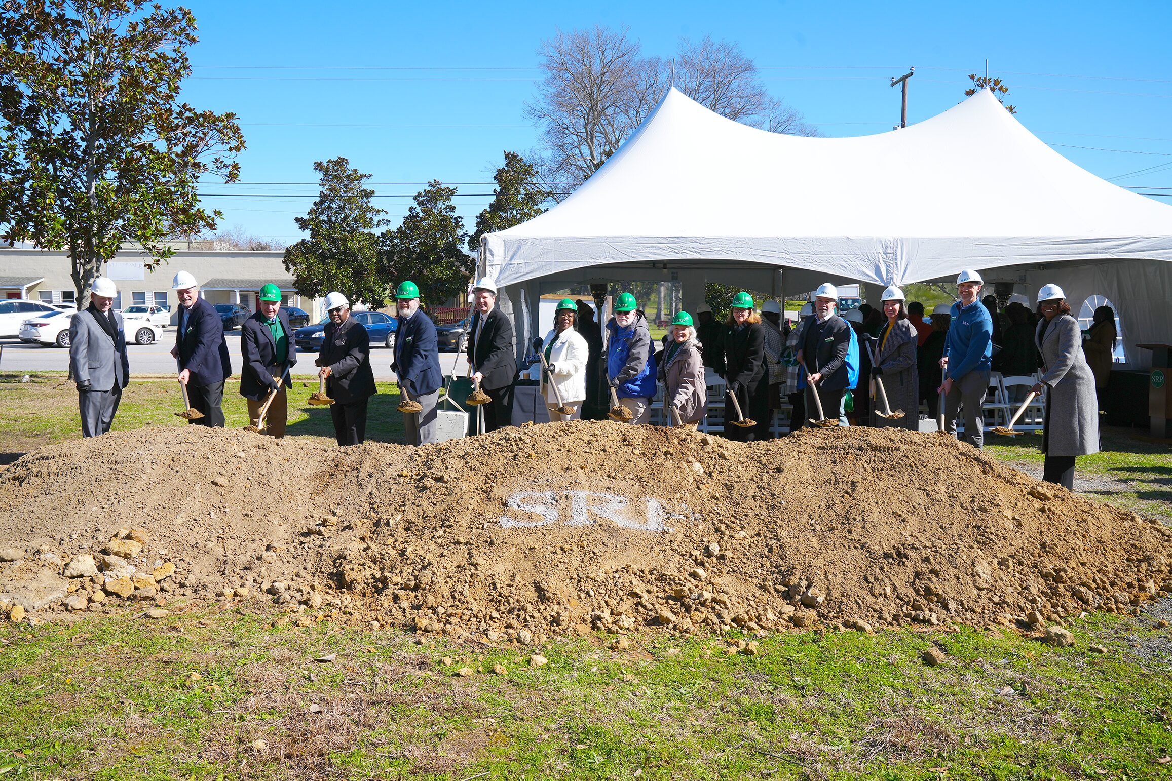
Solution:
<svg viewBox="0 0 1172 781"><path fill-rule="evenodd" d="M883 314L887 323L875 340L874 362L871 366L872 384L883 381L891 410L902 410L898 420L880 418L883 409L879 390L874 390L871 405L871 425L875 427L899 427L908 431L920 429L920 372L915 368L915 327L907 318L904 292L892 285L883 292Z"/></svg>

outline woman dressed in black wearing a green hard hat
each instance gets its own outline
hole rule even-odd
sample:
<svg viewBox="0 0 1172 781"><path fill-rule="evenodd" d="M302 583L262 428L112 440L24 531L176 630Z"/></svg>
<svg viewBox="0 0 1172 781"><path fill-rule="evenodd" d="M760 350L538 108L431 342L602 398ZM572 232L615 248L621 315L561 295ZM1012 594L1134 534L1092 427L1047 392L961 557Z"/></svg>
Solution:
<svg viewBox="0 0 1172 781"><path fill-rule="evenodd" d="M741 292L732 296L728 329L724 333L725 392L736 396L741 412L757 425L734 426L732 402L724 404L724 436L741 441L769 438L769 375L765 371L765 328L754 309L752 296Z"/></svg>

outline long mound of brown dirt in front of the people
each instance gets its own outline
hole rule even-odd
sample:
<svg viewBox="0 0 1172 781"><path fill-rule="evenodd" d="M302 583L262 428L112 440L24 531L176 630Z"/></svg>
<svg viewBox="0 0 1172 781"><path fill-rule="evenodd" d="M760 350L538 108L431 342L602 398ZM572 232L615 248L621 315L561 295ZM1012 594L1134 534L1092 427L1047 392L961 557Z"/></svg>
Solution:
<svg viewBox="0 0 1172 781"><path fill-rule="evenodd" d="M145 542L110 553L111 537ZM5 548L23 560L0 564L0 594L25 603L35 577L93 607L129 566L131 598L259 591L522 642L648 623L1038 623L1172 588L1158 522L945 437L874 429L741 444L577 422L417 450L143 429L13 464Z"/></svg>

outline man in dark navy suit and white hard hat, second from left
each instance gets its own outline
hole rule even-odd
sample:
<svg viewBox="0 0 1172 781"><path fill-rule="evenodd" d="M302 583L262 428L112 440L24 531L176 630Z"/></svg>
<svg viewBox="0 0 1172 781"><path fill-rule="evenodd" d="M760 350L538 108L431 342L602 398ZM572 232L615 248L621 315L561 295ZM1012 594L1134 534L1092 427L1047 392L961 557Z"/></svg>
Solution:
<svg viewBox="0 0 1172 781"><path fill-rule="evenodd" d="M224 427L224 381L232 359L224 343L224 322L216 307L199 297L196 278L179 272L171 283L179 300L179 322L171 356L179 362L179 382L188 386L191 406L204 413L202 426Z"/></svg>

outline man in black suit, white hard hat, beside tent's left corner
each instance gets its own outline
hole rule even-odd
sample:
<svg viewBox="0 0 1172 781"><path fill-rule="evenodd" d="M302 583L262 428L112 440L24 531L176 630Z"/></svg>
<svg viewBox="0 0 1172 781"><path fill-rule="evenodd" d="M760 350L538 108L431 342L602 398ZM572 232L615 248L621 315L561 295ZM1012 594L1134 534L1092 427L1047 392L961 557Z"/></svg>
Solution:
<svg viewBox="0 0 1172 781"><path fill-rule="evenodd" d="M468 324L468 363L481 390L492 400L484 405L484 430L512 425L512 383L517 375L512 322L497 309L497 286L488 276L472 288L476 313Z"/></svg>

